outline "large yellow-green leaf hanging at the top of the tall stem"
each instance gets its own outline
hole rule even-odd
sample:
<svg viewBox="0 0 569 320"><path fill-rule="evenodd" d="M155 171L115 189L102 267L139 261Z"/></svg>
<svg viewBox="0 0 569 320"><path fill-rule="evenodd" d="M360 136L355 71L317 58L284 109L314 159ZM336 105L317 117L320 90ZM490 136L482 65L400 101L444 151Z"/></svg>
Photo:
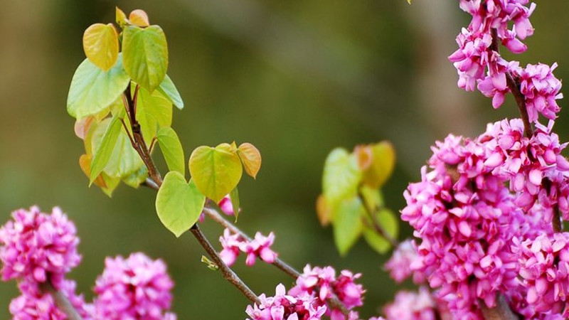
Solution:
<svg viewBox="0 0 569 320"><path fill-rule="evenodd" d="M127 26L122 31L124 69L134 82L154 91L168 70L168 43L159 26Z"/></svg>

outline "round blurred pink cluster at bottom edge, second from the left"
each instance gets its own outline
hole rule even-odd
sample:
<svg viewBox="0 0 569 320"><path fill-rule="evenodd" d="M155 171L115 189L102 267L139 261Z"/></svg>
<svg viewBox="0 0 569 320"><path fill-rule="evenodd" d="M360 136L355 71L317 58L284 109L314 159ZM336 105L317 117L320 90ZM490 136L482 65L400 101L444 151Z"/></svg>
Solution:
<svg viewBox="0 0 569 320"><path fill-rule="evenodd" d="M171 306L174 283L162 260L133 253L126 260L105 259L105 270L95 282L97 319L161 320Z"/></svg>

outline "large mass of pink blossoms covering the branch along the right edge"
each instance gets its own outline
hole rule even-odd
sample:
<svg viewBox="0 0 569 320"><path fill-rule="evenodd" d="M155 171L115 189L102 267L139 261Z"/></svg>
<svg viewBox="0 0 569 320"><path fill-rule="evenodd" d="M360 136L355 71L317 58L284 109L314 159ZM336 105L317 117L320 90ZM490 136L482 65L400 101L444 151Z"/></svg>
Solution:
<svg viewBox="0 0 569 320"><path fill-rule="evenodd" d="M425 289L413 296L413 305L424 306L415 316L397 307L403 305L398 300L411 301L407 294L385 313L388 319L435 319L429 310L444 306L453 319L484 319L482 309L496 307L503 297L524 319L566 319L569 233L562 232L560 218L569 220L569 161L561 154L568 144L552 130L560 111L556 100L563 97L553 75L557 64L521 68L499 53L500 44L512 53L526 50L521 41L533 34L535 4L459 5L472 15L449 57L459 87L477 87L494 108L511 92L521 119L488 124L474 139L450 134L432 147L421 181L404 193L401 211L418 240L402 242L385 267L398 282L413 276L435 291L431 299Z"/></svg>

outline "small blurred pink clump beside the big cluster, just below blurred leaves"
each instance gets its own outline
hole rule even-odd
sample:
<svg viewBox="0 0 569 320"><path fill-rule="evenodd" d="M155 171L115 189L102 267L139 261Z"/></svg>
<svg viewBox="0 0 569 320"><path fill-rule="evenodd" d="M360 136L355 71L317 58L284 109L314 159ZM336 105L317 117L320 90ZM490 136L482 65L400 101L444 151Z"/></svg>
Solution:
<svg viewBox="0 0 569 320"><path fill-rule="evenodd" d="M403 282L408 277L413 276L415 284L422 284L427 275L420 270L422 265L418 258L419 254L414 241L405 240L393 250L388 262L385 262L385 270L389 271L390 277L396 282Z"/></svg>

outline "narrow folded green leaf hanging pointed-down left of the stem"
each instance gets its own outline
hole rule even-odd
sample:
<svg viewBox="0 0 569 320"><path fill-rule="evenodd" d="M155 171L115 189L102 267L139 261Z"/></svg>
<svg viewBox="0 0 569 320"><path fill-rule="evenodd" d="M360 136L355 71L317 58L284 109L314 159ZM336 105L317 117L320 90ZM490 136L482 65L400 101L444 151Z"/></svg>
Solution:
<svg viewBox="0 0 569 320"><path fill-rule="evenodd" d="M110 121L110 123L105 129L105 134L102 135L100 143L95 150L93 150L94 156L91 163L89 186L93 181L95 181L103 169L105 169L105 166L107 166L113 150L115 149L115 145L117 144L117 140L119 139L121 128L120 119L118 117L113 117L111 120L105 119L103 121ZM104 127L104 125L101 125L100 127Z"/></svg>

